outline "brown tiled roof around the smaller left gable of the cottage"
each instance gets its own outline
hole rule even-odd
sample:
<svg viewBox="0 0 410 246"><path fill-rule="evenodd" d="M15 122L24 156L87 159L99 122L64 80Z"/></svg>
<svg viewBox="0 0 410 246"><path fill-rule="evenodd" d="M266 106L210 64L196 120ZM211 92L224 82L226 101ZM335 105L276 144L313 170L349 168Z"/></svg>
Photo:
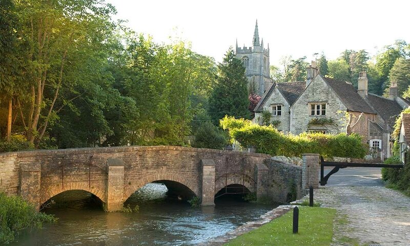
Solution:
<svg viewBox="0 0 410 246"><path fill-rule="evenodd" d="M260 112L263 110L263 105L265 102L271 97L272 93L275 91L275 88L278 88L278 91L286 101L288 101L289 105L292 104L298 99L298 97L302 94L305 88L306 82L284 82L284 83L273 83L271 87L268 88L268 91L263 94L262 98L260 99L258 105L255 107L255 112Z"/></svg>

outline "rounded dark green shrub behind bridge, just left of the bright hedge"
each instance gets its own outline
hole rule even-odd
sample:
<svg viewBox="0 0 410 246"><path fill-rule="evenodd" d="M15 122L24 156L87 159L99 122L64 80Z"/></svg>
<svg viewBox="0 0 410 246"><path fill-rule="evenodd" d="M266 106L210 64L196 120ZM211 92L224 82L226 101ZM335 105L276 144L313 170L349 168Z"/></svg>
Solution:
<svg viewBox="0 0 410 246"><path fill-rule="evenodd" d="M196 130L195 141L192 147L222 149L227 144L228 137L226 132L214 126L210 121L206 121Z"/></svg>

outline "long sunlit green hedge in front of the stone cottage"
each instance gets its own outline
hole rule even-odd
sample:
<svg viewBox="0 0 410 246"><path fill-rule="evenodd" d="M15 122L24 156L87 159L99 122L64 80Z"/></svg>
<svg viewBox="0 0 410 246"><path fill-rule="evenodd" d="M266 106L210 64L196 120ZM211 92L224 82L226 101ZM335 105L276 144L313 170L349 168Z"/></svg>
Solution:
<svg viewBox="0 0 410 246"><path fill-rule="evenodd" d="M323 156L363 158L367 146L359 135L329 135L302 133L298 136L284 135L273 126L259 126L243 119L225 117L223 129L242 146L254 146L259 153L271 155L300 156L302 153L319 153Z"/></svg>

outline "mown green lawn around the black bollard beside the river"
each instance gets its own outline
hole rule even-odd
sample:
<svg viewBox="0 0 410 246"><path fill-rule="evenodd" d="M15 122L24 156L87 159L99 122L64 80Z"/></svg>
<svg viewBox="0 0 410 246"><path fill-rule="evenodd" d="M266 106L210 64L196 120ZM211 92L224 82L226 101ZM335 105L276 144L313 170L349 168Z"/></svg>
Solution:
<svg viewBox="0 0 410 246"><path fill-rule="evenodd" d="M330 245L333 236L333 219L336 209L299 207L299 233L292 233L293 211L243 234L224 246L278 245L321 246Z"/></svg>

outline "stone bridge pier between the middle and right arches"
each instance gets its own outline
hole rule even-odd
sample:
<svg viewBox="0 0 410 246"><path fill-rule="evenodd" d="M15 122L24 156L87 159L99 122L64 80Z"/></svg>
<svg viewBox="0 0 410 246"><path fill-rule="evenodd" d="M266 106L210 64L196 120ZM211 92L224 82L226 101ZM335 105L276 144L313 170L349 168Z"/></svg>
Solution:
<svg viewBox="0 0 410 246"><path fill-rule="evenodd" d="M215 162L211 159L202 159L201 205L214 206L215 195Z"/></svg>

